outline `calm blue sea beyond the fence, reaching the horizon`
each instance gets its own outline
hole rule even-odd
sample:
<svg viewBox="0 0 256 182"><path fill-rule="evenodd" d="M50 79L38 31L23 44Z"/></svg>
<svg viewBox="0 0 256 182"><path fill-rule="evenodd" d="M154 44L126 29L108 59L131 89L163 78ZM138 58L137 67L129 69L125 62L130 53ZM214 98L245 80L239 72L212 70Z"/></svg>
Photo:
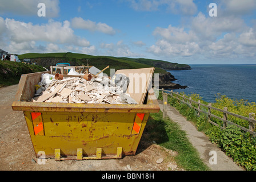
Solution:
<svg viewBox="0 0 256 182"><path fill-rule="evenodd" d="M206 102L215 102L219 93L231 99L256 102L256 64L191 64L191 70L169 71L189 88L174 92L197 93Z"/></svg>

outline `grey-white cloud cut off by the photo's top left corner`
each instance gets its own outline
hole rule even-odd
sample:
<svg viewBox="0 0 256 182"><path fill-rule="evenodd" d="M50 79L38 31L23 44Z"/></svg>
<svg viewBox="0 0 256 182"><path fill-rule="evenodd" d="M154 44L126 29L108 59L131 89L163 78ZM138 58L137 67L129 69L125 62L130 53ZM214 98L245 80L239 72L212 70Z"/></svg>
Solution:
<svg viewBox="0 0 256 182"><path fill-rule="evenodd" d="M17 15L37 16L39 3L45 3L46 18L53 18L59 14L59 0L1 0L0 12Z"/></svg>

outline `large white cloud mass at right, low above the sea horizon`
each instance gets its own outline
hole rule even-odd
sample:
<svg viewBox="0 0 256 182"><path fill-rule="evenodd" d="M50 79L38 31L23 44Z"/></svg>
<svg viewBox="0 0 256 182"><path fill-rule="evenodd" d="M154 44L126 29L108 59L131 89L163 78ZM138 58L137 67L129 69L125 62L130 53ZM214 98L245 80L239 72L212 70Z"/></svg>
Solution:
<svg viewBox="0 0 256 182"><path fill-rule="evenodd" d="M256 55L256 31L239 16L211 18L202 13L190 19L187 27L155 28L155 44L147 51L163 58L204 57L232 60Z"/></svg>

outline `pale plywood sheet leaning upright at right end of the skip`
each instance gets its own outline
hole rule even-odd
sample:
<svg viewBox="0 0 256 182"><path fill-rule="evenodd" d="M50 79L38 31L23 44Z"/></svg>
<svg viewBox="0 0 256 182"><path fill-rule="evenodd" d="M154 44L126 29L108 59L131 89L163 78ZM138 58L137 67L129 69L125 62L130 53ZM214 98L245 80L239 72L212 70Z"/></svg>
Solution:
<svg viewBox="0 0 256 182"><path fill-rule="evenodd" d="M115 75L123 74L129 77L130 83L126 93L129 93L138 104L143 104L154 71L155 68L120 69L115 72Z"/></svg>

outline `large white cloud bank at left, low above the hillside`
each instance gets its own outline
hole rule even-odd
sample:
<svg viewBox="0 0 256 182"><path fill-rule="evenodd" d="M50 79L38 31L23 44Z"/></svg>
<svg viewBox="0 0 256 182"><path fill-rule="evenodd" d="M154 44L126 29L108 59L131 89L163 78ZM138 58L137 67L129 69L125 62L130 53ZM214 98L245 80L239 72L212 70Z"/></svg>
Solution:
<svg viewBox="0 0 256 182"><path fill-rule="evenodd" d="M14 19L0 17L0 40L5 39L9 52L23 53L27 51L38 51L44 48L44 51L58 52L61 50L58 44L68 44L70 46L89 47L90 42L85 38L80 38L74 34L70 27L70 22L55 22L49 20L46 24L33 24L19 22ZM47 46L36 46L47 43ZM42 52L39 50L39 52Z"/></svg>

